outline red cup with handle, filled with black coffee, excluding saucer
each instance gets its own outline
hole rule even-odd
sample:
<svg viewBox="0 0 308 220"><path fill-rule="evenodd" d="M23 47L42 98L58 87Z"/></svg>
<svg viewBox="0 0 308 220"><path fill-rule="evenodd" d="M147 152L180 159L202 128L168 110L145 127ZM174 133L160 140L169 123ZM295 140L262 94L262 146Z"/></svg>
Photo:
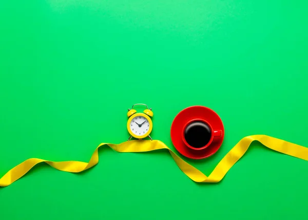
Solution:
<svg viewBox="0 0 308 220"><path fill-rule="evenodd" d="M215 137L221 137L222 131L214 131L206 121L195 119L184 126L182 134L182 139L188 148L203 150L213 142Z"/></svg>

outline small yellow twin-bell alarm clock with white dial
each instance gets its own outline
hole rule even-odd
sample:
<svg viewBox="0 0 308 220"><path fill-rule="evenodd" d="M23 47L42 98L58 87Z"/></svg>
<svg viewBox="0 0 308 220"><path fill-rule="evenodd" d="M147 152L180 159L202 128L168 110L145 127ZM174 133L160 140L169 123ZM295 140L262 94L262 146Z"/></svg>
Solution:
<svg viewBox="0 0 308 220"><path fill-rule="evenodd" d="M144 105L146 109L143 113L137 113L136 109L133 109L136 105ZM153 128L153 123L150 117L153 117L152 108L148 108L146 104L134 104L131 109L128 108L127 117L129 117L127 121L127 130L130 134L128 140L132 137L137 139L142 139L145 137L150 137L150 133Z"/></svg>

